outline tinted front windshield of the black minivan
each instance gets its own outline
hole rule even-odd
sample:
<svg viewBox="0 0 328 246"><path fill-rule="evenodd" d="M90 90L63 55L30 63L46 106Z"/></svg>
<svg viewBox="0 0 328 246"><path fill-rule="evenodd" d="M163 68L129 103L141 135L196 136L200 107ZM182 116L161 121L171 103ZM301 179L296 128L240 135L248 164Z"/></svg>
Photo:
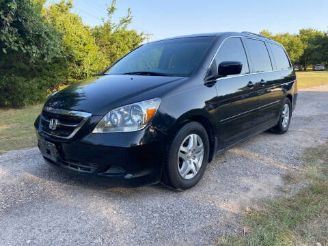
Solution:
<svg viewBox="0 0 328 246"><path fill-rule="evenodd" d="M144 44L120 59L105 74L189 77L213 38L178 38Z"/></svg>

